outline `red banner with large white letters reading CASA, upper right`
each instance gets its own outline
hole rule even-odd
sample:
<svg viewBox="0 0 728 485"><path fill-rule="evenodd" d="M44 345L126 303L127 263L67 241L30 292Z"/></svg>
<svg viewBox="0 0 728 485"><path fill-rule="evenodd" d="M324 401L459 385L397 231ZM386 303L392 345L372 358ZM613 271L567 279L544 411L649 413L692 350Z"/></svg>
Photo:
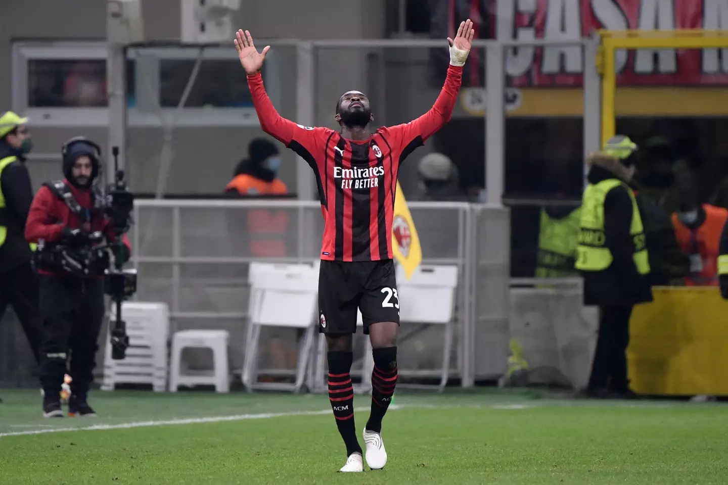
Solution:
<svg viewBox="0 0 728 485"><path fill-rule="evenodd" d="M488 1L488 0L485 0ZM579 39L596 29L728 29L728 0L489 0L491 38ZM507 49L513 87L582 84L580 47ZM728 49L617 52L617 84L728 86Z"/></svg>

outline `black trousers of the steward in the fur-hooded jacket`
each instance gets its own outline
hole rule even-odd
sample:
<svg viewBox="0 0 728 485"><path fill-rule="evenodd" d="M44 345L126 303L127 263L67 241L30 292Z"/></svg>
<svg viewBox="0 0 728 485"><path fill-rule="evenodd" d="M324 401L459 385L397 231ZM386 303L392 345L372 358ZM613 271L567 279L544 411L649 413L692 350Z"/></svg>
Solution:
<svg viewBox="0 0 728 485"><path fill-rule="evenodd" d="M599 332L589 389L625 392L627 380L627 346L630 343L630 316L633 306L601 307Z"/></svg>

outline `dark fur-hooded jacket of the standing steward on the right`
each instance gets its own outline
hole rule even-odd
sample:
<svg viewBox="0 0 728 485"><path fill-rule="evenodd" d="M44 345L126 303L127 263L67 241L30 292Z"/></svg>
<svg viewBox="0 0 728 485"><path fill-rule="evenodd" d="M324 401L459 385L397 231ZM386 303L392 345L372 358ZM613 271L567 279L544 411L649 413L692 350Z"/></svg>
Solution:
<svg viewBox="0 0 728 485"><path fill-rule="evenodd" d="M612 157L596 153L587 160L590 184L617 178L629 181L628 170ZM635 305L652 301L649 275L641 275L634 263L634 245L630 236L633 206L628 188L618 186L604 199L604 239L612 252L612 264L604 271L584 271L585 305Z"/></svg>

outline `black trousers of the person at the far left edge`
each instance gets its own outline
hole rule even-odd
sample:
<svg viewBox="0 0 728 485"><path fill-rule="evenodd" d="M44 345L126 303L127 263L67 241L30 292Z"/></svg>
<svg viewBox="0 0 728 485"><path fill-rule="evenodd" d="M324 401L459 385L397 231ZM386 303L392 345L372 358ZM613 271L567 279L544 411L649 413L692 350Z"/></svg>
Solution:
<svg viewBox="0 0 728 485"><path fill-rule="evenodd" d="M28 262L0 274L0 319L8 305L15 310L36 362L40 361L43 324L38 311L38 276Z"/></svg>

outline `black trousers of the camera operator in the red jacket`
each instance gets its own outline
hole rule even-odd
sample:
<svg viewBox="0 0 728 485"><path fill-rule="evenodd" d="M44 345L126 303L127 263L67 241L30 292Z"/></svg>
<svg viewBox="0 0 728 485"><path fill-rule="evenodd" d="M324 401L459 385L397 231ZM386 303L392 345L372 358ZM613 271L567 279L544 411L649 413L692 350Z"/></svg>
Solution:
<svg viewBox="0 0 728 485"><path fill-rule="evenodd" d="M71 393L84 399L93 382L98 335L106 306L103 280L40 276L43 317L41 385L46 396L58 396L63 374L73 381Z"/></svg>

